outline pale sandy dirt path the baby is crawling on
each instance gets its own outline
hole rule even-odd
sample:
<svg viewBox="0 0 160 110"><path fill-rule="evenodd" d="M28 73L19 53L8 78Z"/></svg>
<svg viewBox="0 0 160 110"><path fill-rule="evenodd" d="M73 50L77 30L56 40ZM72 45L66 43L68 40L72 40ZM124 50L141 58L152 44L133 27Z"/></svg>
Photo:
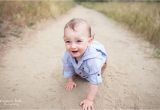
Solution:
<svg viewBox="0 0 160 110"><path fill-rule="evenodd" d="M7 49L0 60L0 109L80 109L86 82L64 90L63 27L73 17L86 19L109 54L109 67L95 108L160 109L160 61L151 46L104 15L83 7L45 24ZM2 54L2 52L1 52Z"/></svg>

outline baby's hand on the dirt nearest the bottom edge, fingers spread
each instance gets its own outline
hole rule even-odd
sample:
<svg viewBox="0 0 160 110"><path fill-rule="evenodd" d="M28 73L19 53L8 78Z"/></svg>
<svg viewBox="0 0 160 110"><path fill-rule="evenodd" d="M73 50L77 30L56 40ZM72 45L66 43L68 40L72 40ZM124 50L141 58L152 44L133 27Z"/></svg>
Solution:
<svg viewBox="0 0 160 110"><path fill-rule="evenodd" d="M94 110L93 101L84 99L80 105L82 106L82 110Z"/></svg>

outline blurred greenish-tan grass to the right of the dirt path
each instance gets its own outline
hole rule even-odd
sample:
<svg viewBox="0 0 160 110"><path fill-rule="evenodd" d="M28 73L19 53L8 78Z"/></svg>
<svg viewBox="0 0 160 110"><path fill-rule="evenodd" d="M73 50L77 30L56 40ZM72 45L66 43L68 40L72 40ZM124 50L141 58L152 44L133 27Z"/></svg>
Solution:
<svg viewBox="0 0 160 110"><path fill-rule="evenodd" d="M108 2L81 3L106 16L123 23L156 47L160 56L160 3L154 2Z"/></svg>

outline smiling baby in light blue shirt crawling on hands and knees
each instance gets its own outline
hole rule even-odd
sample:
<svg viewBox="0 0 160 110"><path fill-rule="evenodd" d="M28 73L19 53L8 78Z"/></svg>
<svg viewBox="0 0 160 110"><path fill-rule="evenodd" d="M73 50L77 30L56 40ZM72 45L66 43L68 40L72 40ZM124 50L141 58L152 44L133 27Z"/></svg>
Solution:
<svg viewBox="0 0 160 110"><path fill-rule="evenodd" d="M76 87L73 77L79 75L89 82L86 98L80 105L83 110L93 109L93 101L102 83L101 73L106 67L107 54L102 44L93 41L90 25L81 18L70 20L64 27L66 52L63 57L63 74L66 90Z"/></svg>

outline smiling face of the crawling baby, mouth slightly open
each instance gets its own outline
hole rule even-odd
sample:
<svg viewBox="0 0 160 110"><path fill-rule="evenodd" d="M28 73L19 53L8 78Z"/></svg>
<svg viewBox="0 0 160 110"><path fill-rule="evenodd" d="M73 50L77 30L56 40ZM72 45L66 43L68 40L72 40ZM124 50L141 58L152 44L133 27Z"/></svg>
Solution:
<svg viewBox="0 0 160 110"><path fill-rule="evenodd" d="M66 50L78 60L90 45L92 38L88 35L87 29L77 27L76 31L66 28L64 30L64 42Z"/></svg>

